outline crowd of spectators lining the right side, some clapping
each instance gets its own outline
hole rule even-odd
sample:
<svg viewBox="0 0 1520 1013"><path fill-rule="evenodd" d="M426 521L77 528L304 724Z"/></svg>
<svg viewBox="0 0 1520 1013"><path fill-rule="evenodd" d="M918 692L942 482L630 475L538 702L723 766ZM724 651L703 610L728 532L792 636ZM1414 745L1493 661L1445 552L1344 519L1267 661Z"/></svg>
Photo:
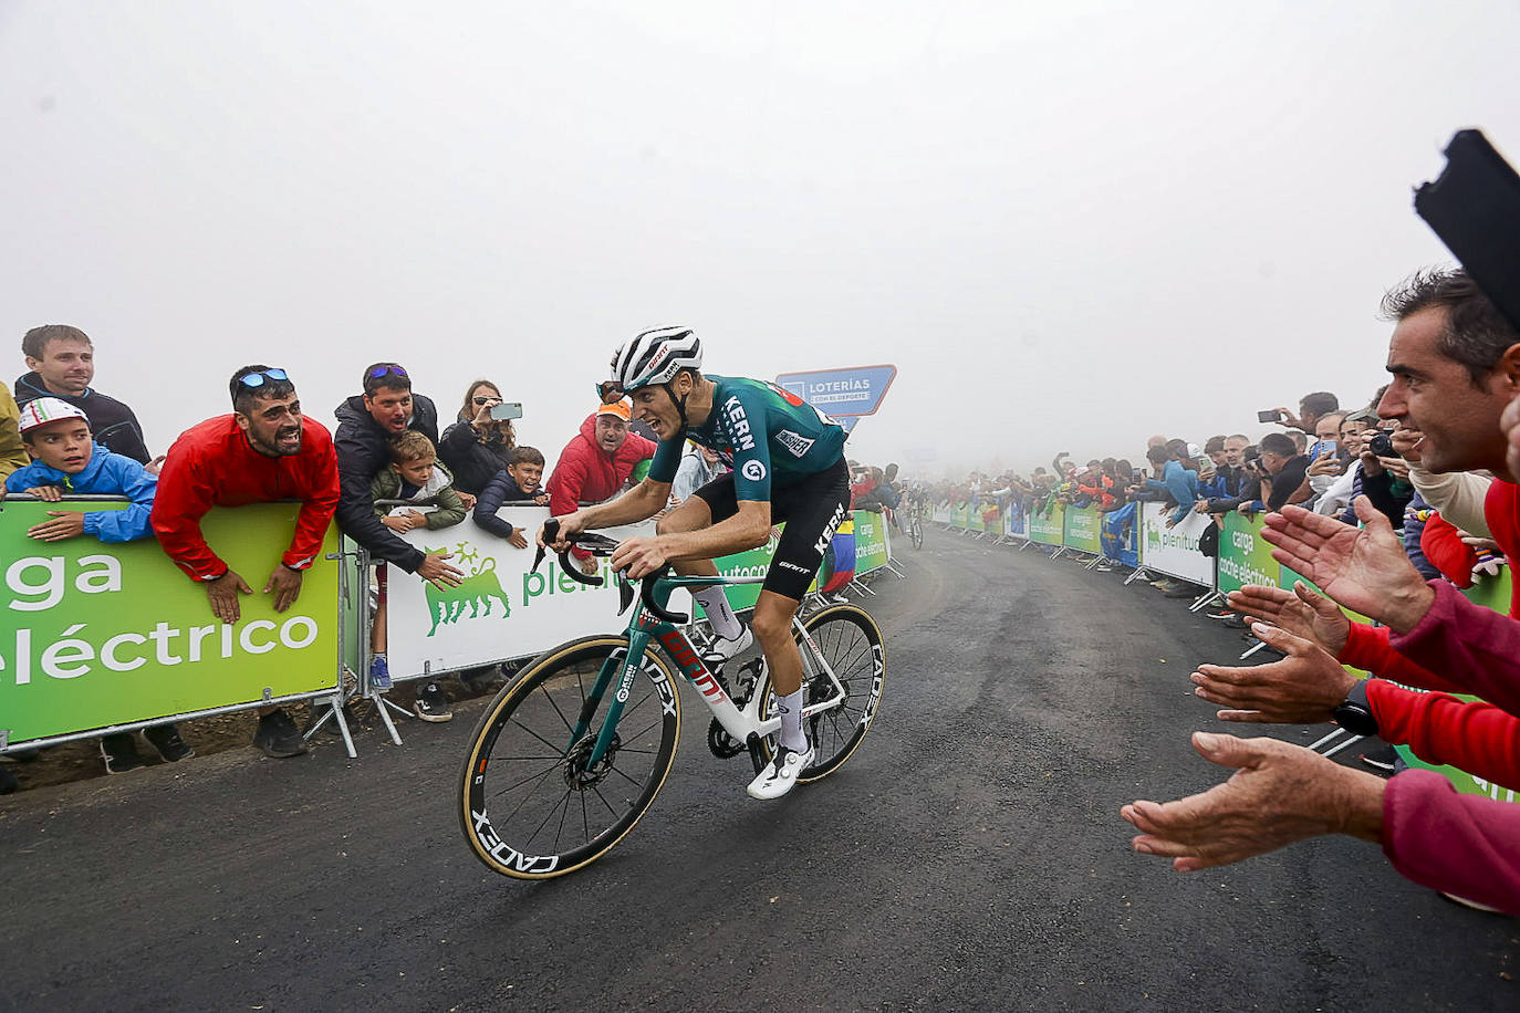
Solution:
<svg viewBox="0 0 1520 1013"><path fill-rule="evenodd" d="M1520 553L1520 330L1459 269L1412 275L1382 313L1394 325L1391 381L1365 404L1313 392L1297 412L1259 412L1257 425L1272 428L1254 440L1152 436L1138 468L1058 454L1028 475L910 481L907 495L988 518L1091 507L1113 559L1111 539L1146 500L1164 504L1167 527L1210 518L1205 554L1227 513L1265 515L1274 559L1313 586L1231 592L1211 617L1249 627L1277 661L1199 665L1196 696L1225 721L1336 721L1424 764L1520 790L1520 594L1512 565L1503 577ZM1462 595L1482 580L1509 583L1508 614ZM1207 592L1154 583L1172 597ZM1362 756L1388 779L1275 738L1199 732L1193 747L1234 776L1176 802L1125 805L1137 852L1189 872L1347 834L1379 843L1398 872L1455 901L1520 914L1512 802L1459 794L1391 747Z"/></svg>

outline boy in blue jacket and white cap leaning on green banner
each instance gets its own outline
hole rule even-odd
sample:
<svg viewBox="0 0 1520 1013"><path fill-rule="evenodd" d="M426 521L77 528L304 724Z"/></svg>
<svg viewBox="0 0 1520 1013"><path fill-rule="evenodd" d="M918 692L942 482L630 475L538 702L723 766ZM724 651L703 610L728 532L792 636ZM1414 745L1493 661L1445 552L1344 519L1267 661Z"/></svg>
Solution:
<svg viewBox="0 0 1520 1013"><path fill-rule="evenodd" d="M27 536L61 542L90 535L102 542L132 542L154 533L149 518L158 489L157 475L131 457L96 443L82 409L58 398L35 398L21 409L18 428L32 463L6 475L6 494L27 494L47 503L58 503L64 495L131 500L125 510L49 510L49 519L29 527ZM144 729L143 738L169 762L195 756L173 724ZM131 732L102 738L100 756L106 773L126 773L143 765Z"/></svg>

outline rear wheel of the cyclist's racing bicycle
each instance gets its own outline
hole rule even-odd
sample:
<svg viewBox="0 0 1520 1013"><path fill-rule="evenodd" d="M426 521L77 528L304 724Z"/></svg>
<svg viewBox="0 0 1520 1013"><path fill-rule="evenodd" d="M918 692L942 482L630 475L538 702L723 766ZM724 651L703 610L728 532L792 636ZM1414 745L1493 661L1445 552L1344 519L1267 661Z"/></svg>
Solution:
<svg viewBox="0 0 1520 1013"><path fill-rule="evenodd" d="M839 706L809 718L807 737L813 743L815 756L813 762L798 775L798 782L827 778L850 759L860 740L871 731L886 679L886 647L882 642L882 630L865 609L854 604L833 604L807 617L803 627L844 683L845 699ZM793 639L803 652L804 706L834 696L827 673L810 673L810 650L801 644L795 629ZM766 694L762 712L769 714L774 700L769 668L755 693ZM769 740L763 749L769 759Z"/></svg>

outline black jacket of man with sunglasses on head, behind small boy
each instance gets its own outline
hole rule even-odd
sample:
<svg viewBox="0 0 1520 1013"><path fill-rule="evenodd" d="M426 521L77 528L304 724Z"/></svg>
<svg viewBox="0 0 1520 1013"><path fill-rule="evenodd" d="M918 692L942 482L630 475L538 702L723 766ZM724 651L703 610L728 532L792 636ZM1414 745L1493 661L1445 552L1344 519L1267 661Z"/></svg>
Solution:
<svg viewBox="0 0 1520 1013"><path fill-rule="evenodd" d="M369 550L375 559L392 562L407 573L416 573L426 554L409 545L375 516L375 501L369 483L391 466L391 433L365 410L363 395L354 395L337 406L337 527L344 535ZM413 428L438 447L438 409L430 398L412 393Z"/></svg>

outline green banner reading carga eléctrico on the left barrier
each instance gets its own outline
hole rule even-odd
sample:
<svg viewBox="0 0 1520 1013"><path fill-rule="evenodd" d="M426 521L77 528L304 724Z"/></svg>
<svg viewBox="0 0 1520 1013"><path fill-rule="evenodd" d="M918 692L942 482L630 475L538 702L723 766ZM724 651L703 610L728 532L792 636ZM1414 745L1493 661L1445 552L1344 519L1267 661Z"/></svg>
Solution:
<svg viewBox="0 0 1520 1013"><path fill-rule="evenodd" d="M205 516L207 542L254 588L231 626L211 615L205 588L152 538L26 535L49 509L123 506L8 500L0 509L0 729L12 743L337 685L337 563L319 557L283 614L260 594L290 545L298 503ZM330 530L322 554L336 548Z"/></svg>

